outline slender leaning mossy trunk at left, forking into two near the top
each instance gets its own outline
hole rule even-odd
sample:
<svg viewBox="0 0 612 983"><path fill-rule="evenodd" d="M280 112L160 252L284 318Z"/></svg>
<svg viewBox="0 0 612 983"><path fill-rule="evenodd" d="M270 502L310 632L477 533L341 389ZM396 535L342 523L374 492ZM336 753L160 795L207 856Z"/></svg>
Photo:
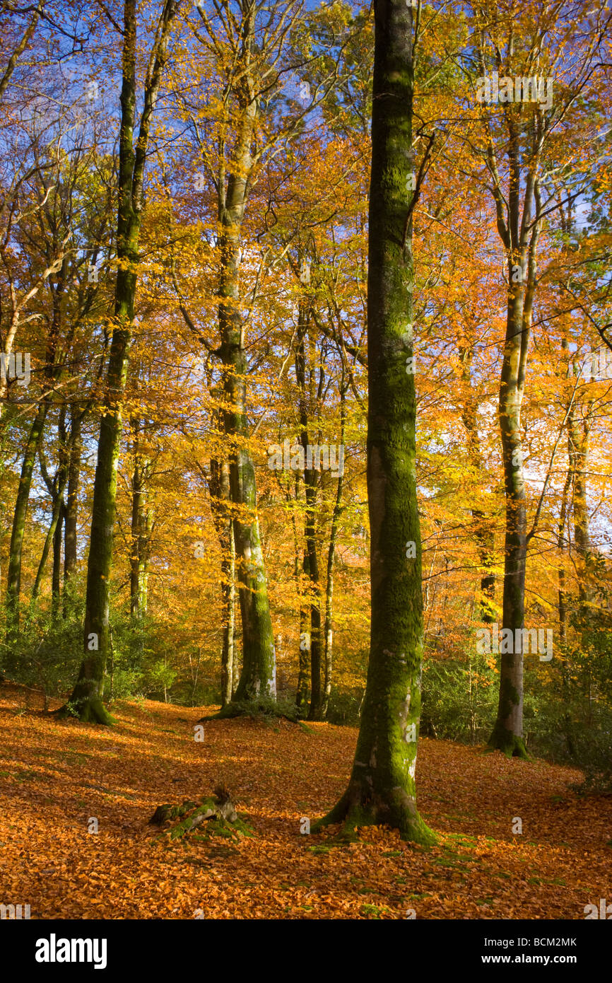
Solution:
<svg viewBox="0 0 612 983"><path fill-rule="evenodd" d="M128 371L136 298L142 182L149 127L166 61L176 0L165 0L144 81L138 141L134 141L137 103L137 4L125 0L119 136L119 207L117 216L117 280L104 407L93 483L93 503L83 623L83 663L67 707L82 721L111 723L102 703L109 650L109 585L112 565L117 465L122 433L122 402Z"/></svg>

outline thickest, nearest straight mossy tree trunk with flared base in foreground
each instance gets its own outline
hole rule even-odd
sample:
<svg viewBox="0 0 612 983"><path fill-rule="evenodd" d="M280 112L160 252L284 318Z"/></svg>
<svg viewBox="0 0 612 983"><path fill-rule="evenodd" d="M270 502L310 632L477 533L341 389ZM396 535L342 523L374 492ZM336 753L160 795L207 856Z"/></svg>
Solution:
<svg viewBox="0 0 612 983"><path fill-rule="evenodd" d="M434 835L417 812L423 647L413 350L413 10L377 0L367 272L367 497L371 623L349 786L319 825L388 824ZM412 210L412 209L411 209ZM410 544L414 549L407 549ZM409 557L407 557L409 553ZM316 829L316 827L315 827Z"/></svg>

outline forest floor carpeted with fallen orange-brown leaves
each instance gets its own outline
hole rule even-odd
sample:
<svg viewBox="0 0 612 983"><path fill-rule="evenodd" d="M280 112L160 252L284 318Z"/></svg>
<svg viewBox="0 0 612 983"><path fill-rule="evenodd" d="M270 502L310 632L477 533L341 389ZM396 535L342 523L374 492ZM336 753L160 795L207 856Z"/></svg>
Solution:
<svg viewBox="0 0 612 983"><path fill-rule="evenodd" d="M579 797L571 769L422 739L418 807L438 844L366 828L334 846L300 821L344 790L354 727L214 721L199 743L213 708L116 703L112 728L41 708L0 688L0 901L31 918L584 919L612 897L612 799ZM157 805L219 782L252 837L154 841Z"/></svg>

